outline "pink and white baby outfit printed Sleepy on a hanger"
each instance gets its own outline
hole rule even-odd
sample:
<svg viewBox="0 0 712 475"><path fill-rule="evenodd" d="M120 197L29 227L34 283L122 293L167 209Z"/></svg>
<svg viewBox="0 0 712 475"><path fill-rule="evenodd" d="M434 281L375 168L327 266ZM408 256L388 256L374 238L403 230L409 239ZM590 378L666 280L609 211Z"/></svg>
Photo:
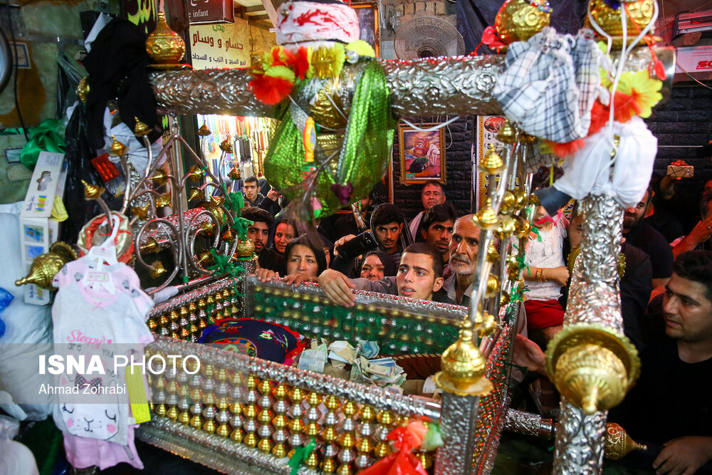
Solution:
<svg viewBox="0 0 712 475"><path fill-rule="evenodd" d="M85 256L68 263L56 275L59 288L52 307L54 342L70 353L100 355L106 375L63 375L60 385L117 387L125 385L122 368L114 372L114 357L142 355L153 341L145 324L153 301L136 273L125 263L101 266ZM70 380L69 378L74 378ZM106 469L120 462L143 468L134 446L129 404L56 404L55 424L63 431L67 459L75 468Z"/></svg>

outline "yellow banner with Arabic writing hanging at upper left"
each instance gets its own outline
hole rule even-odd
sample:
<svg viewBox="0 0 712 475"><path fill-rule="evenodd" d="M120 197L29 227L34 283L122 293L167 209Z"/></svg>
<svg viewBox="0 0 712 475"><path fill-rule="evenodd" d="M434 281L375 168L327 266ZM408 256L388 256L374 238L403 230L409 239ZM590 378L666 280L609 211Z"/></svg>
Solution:
<svg viewBox="0 0 712 475"><path fill-rule="evenodd" d="M219 25L191 25L190 51L193 68L246 68L250 63L247 20Z"/></svg>

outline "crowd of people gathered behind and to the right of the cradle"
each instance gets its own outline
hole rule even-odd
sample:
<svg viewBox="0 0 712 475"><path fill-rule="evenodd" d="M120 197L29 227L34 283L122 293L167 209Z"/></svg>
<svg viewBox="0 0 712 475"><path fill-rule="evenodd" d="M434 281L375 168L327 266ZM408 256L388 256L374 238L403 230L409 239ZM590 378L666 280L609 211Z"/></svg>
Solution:
<svg viewBox="0 0 712 475"><path fill-rule="evenodd" d="M548 175L548 173L547 173ZM548 180L545 180L548 181ZM671 212L673 177L651 182L636 207L622 216L619 288L624 333L637 347L642 375L610 419L648 444L629 457L659 474L712 473L712 179L705 184L699 220L691 227ZM422 211L407 221L401 207L372 197L349 214L318 222L315 233L280 212L277 192L259 193L244 182L243 216L253 221L261 281L283 276L298 286L319 283L342 306L355 305L354 289L467 306L478 259L479 228L459 216L438 182L422 187ZM541 184L545 186L545 183ZM526 242L525 330L517 335L515 363L537 409L555 417L557 395L545 377L544 351L561 330L567 287L582 240L583 217L537 207ZM533 379L533 380L532 380ZM647 456L647 458L646 458Z"/></svg>

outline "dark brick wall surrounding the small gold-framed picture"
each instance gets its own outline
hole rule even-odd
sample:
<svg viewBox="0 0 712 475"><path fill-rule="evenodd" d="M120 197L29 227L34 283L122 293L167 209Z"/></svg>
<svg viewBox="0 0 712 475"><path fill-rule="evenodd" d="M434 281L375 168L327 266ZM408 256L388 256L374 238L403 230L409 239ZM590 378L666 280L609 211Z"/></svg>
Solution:
<svg viewBox="0 0 712 475"><path fill-rule="evenodd" d="M406 118L415 125L426 122L444 122L448 117L419 117ZM472 162L471 144L473 137L473 116L465 116L452 122L445 129L445 158L446 177L445 184L447 200L454 204L459 214L470 212L470 198L472 194ZM393 167L393 201L402 207L407 219L412 219L423 209L420 199L421 184L404 185L400 182L400 148L398 131L393 140L392 153Z"/></svg>

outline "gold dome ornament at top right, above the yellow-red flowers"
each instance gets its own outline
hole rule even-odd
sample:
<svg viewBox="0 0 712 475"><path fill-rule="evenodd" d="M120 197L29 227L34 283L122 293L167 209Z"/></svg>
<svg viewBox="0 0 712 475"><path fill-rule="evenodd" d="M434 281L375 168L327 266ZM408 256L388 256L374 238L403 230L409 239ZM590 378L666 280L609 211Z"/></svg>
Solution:
<svg viewBox="0 0 712 475"><path fill-rule="evenodd" d="M630 45L638 36L638 31L648 26L653 19L655 0L621 1L617 9L612 9L604 0L592 0L590 11L592 19L605 33L611 36L613 47L622 48L621 16L627 17L627 43ZM590 28L588 16L586 16L586 25Z"/></svg>

